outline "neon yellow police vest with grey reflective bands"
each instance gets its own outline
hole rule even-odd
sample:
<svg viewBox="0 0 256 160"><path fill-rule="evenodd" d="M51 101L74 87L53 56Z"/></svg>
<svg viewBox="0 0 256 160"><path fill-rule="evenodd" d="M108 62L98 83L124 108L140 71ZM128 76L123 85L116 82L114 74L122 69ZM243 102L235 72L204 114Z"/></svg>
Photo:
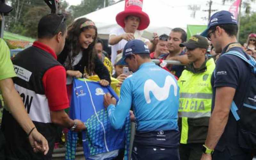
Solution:
<svg viewBox="0 0 256 160"><path fill-rule="evenodd" d="M212 107L211 76L214 60L206 62L206 69L199 73L184 70L178 81L180 106L178 125L180 143L204 143Z"/></svg>

